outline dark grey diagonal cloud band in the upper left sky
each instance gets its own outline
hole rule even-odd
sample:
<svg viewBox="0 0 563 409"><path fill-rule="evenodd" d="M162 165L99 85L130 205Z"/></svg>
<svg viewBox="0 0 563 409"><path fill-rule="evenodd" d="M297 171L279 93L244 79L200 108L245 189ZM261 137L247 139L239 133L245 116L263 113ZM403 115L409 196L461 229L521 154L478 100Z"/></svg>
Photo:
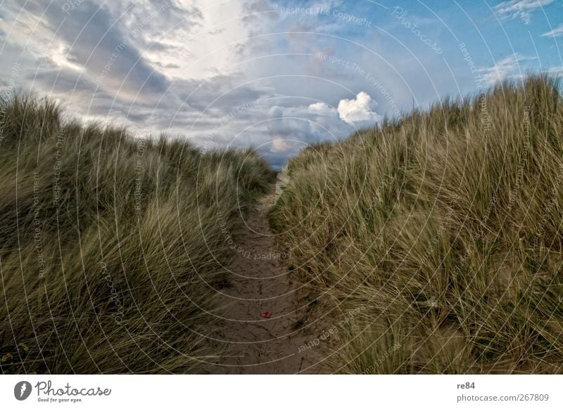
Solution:
<svg viewBox="0 0 563 409"><path fill-rule="evenodd" d="M165 91L169 79L154 70L134 44L143 38L147 27L174 14L176 8L170 2L153 8L129 29L121 20L135 15L139 8L135 4L129 4L120 15L113 15L91 0L57 0L46 8L43 4L34 2L25 7L35 15L43 14L44 24L65 44L68 60L84 67L96 85L113 91L121 89L120 95L125 98L139 93L139 98L154 100Z"/></svg>

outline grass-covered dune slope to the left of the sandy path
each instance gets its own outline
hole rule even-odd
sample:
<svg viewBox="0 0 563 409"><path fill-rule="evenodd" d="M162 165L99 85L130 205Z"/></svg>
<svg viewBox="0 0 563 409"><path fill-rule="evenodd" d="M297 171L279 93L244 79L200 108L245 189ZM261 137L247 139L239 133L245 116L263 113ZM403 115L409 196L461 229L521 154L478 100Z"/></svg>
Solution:
<svg viewBox="0 0 563 409"><path fill-rule="evenodd" d="M232 256L225 235L267 163L81 126L29 97L0 101L0 136L1 372L213 361L206 310Z"/></svg>

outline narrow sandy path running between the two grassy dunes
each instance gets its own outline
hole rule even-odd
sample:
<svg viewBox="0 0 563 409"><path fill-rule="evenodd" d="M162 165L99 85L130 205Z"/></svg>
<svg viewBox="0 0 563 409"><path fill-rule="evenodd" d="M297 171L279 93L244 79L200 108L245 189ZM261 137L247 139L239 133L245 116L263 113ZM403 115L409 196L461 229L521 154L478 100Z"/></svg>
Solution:
<svg viewBox="0 0 563 409"><path fill-rule="evenodd" d="M317 373L320 361L299 326L308 302L299 301L286 258L276 247L267 212L274 187L244 216L246 226L234 236L241 252L231 268L232 286L219 299L224 313L214 338L227 342L226 356L207 372L218 374ZM270 318L262 317L271 311ZM303 348L301 348L303 350Z"/></svg>

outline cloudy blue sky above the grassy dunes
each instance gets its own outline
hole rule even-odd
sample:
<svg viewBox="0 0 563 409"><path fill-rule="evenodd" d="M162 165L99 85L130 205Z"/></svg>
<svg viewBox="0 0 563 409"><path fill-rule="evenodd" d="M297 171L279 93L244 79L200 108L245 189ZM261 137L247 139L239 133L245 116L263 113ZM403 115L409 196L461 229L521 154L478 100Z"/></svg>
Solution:
<svg viewBox="0 0 563 409"><path fill-rule="evenodd" d="M561 76L562 46L562 0L4 0L0 94L281 167L413 107Z"/></svg>

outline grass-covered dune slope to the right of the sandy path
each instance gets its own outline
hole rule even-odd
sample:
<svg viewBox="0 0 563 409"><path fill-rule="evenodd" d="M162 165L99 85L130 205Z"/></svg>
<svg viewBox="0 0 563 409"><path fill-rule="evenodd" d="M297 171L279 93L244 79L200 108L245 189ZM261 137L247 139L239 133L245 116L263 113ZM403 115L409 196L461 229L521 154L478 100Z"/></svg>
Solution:
<svg viewBox="0 0 563 409"><path fill-rule="evenodd" d="M272 223L303 278L352 317L332 370L562 372L554 80L445 100L308 148L289 171Z"/></svg>

